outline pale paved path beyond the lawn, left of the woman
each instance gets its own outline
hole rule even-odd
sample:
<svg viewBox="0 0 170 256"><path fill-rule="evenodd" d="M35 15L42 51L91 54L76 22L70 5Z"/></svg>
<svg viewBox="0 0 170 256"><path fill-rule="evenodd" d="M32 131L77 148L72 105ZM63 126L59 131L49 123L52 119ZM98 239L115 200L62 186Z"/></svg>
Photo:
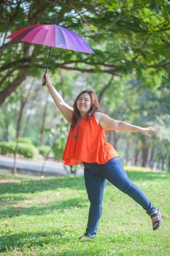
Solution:
<svg viewBox="0 0 170 256"><path fill-rule="evenodd" d="M12 157L3 156L0 154L0 168L12 170L14 159ZM66 176L69 173L69 167L64 167L62 162L57 162L48 159L46 162L43 159L17 159L18 173L34 174L42 176ZM77 172L82 175L83 170Z"/></svg>

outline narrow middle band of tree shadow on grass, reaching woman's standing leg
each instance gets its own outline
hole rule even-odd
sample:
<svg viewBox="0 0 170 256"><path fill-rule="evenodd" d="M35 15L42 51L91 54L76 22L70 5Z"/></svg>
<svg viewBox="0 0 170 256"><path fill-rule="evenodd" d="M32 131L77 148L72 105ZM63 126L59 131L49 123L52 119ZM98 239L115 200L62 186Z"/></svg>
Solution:
<svg viewBox="0 0 170 256"><path fill-rule="evenodd" d="M12 218L20 215L43 215L49 214L52 211L59 212L66 211L69 208L83 208L87 206L87 200L80 197L71 198L69 200L61 200L58 203L46 206L32 206L32 207L10 207L6 210L0 211L0 218Z"/></svg>

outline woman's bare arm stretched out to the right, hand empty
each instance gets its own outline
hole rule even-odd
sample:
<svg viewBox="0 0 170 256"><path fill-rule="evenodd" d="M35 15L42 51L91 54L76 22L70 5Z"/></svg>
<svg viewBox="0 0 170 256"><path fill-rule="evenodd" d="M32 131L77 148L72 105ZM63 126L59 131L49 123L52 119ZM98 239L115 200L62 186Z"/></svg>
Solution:
<svg viewBox="0 0 170 256"><path fill-rule="evenodd" d="M101 128L106 130L119 130L123 132L140 132L143 135L150 137L151 132L157 132L155 127L138 127L133 124L128 124L125 121L115 120L104 113L95 113L95 118Z"/></svg>

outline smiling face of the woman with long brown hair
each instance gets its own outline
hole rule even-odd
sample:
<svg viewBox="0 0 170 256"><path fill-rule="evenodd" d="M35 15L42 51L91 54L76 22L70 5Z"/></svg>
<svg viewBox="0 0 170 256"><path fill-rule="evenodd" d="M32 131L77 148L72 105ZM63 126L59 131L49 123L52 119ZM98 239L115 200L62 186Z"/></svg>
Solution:
<svg viewBox="0 0 170 256"><path fill-rule="evenodd" d="M77 99L77 108L80 111L81 116L85 116L86 113L88 113L88 110L90 110L91 107L91 98L90 94L84 93L81 94L80 97Z"/></svg>

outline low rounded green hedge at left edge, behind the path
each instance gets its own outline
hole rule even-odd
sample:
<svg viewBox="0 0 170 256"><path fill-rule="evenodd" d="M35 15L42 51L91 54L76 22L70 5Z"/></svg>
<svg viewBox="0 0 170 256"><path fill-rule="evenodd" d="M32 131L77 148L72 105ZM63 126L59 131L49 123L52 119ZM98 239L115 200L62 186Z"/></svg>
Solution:
<svg viewBox="0 0 170 256"><path fill-rule="evenodd" d="M1 154L14 154L16 143L15 142L0 142ZM17 154L23 157L35 159L37 150L34 145L26 143L18 143Z"/></svg>

